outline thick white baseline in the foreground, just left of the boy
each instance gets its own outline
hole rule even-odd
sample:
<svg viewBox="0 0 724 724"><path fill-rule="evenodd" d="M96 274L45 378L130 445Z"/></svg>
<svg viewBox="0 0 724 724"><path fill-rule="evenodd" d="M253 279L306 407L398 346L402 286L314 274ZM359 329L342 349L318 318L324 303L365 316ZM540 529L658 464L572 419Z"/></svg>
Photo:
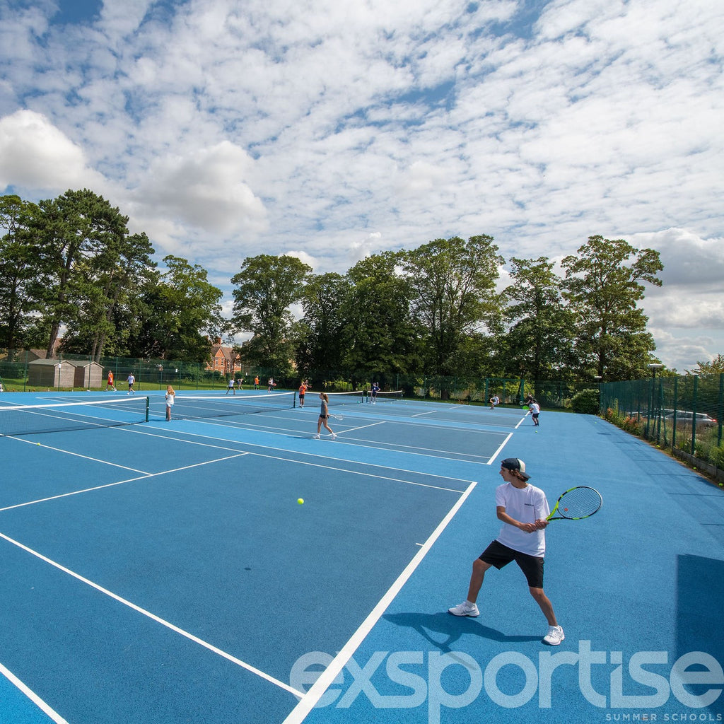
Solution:
<svg viewBox="0 0 724 724"><path fill-rule="evenodd" d="M397 576L395 581L387 593L384 594L382 599L379 600L377 605L371 611L369 616L362 622L361 626L353 633L350 640L342 647L342 650L334 657L332 663L321 673L319 678L313 683L309 691L304 695L303 699L292 709L292 712L284 720L282 724L301 724L306 718L309 712L314 708L319 699L324 695L324 692L329 689L329 686L334 683L334 679L337 678L342 672L347 662L350 660L354 652L360 647L362 641L366 638L367 634L376 626L377 621L382 616L387 607L395 599L395 596L400 592L402 587L407 583L408 579L414 573L415 569L420 565L424 557L427 555L429 550L432 548L432 544L439 538L442 531L445 530L447 524L452 521L455 513L460 510L460 507L468 499L468 496L473 491L476 483L471 483L470 487L460 495L460 499L455 505L450 508L450 512L445 515L445 518L440 521L439 525L432 532L431 536L426 540L423 547L416 553L415 557L408 563L405 570Z"/></svg>

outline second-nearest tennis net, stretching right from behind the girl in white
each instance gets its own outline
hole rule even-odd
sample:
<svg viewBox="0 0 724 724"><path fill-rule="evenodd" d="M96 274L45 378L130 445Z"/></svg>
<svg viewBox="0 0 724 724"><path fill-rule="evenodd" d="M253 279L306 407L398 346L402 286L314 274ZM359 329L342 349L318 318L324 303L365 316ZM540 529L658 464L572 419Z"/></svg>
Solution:
<svg viewBox="0 0 724 724"><path fill-rule="evenodd" d="M203 420L234 415L248 415L274 410L289 410L296 406L296 392L267 392L265 395L202 395L178 394L174 397L171 416L174 420ZM152 416L166 414L164 397L151 397Z"/></svg>

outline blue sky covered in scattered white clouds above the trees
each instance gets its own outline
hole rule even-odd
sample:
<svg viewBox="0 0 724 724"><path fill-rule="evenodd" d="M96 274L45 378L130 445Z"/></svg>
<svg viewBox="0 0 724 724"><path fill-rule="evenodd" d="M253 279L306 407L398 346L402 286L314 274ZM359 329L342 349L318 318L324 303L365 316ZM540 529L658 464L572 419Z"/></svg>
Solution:
<svg viewBox="0 0 724 724"><path fill-rule="evenodd" d="M90 188L227 313L261 253L625 239L683 371L724 353L723 65L721 0L0 0L0 194Z"/></svg>

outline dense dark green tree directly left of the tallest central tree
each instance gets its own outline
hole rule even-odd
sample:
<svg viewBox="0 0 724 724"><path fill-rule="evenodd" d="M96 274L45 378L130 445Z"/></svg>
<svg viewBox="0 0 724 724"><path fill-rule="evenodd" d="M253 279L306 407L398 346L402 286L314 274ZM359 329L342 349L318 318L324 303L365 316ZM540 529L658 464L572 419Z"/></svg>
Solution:
<svg viewBox="0 0 724 724"><path fill-rule="evenodd" d="M361 374L408 372L418 353L411 318L411 285L400 273L399 252L358 261L347 273L342 308L345 366Z"/></svg>

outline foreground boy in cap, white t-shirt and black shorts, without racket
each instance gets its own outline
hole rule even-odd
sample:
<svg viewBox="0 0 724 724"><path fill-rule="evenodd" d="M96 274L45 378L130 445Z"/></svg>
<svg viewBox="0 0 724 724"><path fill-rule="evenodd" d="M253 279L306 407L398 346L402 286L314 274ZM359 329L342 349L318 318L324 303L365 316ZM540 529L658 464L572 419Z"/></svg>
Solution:
<svg viewBox="0 0 724 724"><path fill-rule="evenodd" d="M553 613L550 599L543 591L546 520L550 513L545 493L528 484L526 463L507 458L500 463L500 476L505 483L495 489L497 517L502 521L500 533L473 563L468 599L448 609L455 616L478 616L476 599L485 572L494 565L502 568L511 561L518 564L528 581L528 590L548 621L548 633L543 641L551 646L560 644L565 636Z"/></svg>

